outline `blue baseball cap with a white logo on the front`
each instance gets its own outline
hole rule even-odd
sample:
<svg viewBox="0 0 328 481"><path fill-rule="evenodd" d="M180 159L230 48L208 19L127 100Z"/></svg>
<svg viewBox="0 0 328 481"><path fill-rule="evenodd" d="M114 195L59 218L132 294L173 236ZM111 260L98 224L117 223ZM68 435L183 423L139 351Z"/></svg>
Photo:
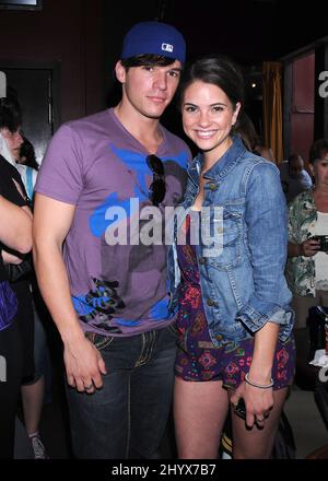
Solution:
<svg viewBox="0 0 328 481"><path fill-rule="evenodd" d="M163 55L185 63L186 42L183 35L167 23L140 22L125 36L120 58L147 54Z"/></svg>

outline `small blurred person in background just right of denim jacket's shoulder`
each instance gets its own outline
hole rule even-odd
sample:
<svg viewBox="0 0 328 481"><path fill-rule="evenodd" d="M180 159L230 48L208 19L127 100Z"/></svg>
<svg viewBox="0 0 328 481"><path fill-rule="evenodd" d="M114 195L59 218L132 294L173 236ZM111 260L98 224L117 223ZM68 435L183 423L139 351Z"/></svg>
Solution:
<svg viewBox="0 0 328 481"><path fill-rule="evenodd" d="M288 203L298 193L312 187L312 179L304 169L304 162L300 154L292 154L288 161L279 165L282 189Z"/></svg>

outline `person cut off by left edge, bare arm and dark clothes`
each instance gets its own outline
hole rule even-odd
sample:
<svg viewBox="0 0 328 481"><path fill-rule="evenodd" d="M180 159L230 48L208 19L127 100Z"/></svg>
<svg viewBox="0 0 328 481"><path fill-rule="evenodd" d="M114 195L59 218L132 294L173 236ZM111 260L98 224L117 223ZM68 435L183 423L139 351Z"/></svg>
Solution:
<svg viewBox="0 0 328 481"><path fill-rule="evenodd" d="M5 137L14 136L19 110L7 98L0 99L0 359L5 380L0 382L0 458L13 457L14 425L20 387L28 363L26 341L19 313L24 310L8 282L4 263L20 263L32 248L32 215L26 207L16 171L1 155L8 152ZM12 171L13 168L13 171ZM14 253L12 251L14 250ZM33 345L33 344L32 344ZM33 361L33 360L32 360ZM33 364L31 366L33 369ZM3 374L3 373L2 373ZM30 369L28 369L28 374Z"/></svg>

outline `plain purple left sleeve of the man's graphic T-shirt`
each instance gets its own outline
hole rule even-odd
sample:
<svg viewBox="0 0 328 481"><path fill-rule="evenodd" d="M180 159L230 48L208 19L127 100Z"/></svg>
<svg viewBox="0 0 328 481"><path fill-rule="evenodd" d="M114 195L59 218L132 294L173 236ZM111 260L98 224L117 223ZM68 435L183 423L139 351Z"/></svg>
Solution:
<svg viewBox="0 0 328 481"><path fill-rule="evenodd" d="M83 188L82 152L78 132L68 124L60 127L43 160L35 191L75 206Z"/></svg>

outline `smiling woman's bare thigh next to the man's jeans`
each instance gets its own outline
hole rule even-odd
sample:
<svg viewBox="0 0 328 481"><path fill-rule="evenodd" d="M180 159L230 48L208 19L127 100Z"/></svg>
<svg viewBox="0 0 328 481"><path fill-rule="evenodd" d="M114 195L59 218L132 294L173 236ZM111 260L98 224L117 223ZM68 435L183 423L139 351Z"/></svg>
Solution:
<svg viewBox="0 0 328 481"><path fill-rule="evenodd" d="M221 380L175 378L174 421L180 459L216 459L229 407Z"/></svg>

